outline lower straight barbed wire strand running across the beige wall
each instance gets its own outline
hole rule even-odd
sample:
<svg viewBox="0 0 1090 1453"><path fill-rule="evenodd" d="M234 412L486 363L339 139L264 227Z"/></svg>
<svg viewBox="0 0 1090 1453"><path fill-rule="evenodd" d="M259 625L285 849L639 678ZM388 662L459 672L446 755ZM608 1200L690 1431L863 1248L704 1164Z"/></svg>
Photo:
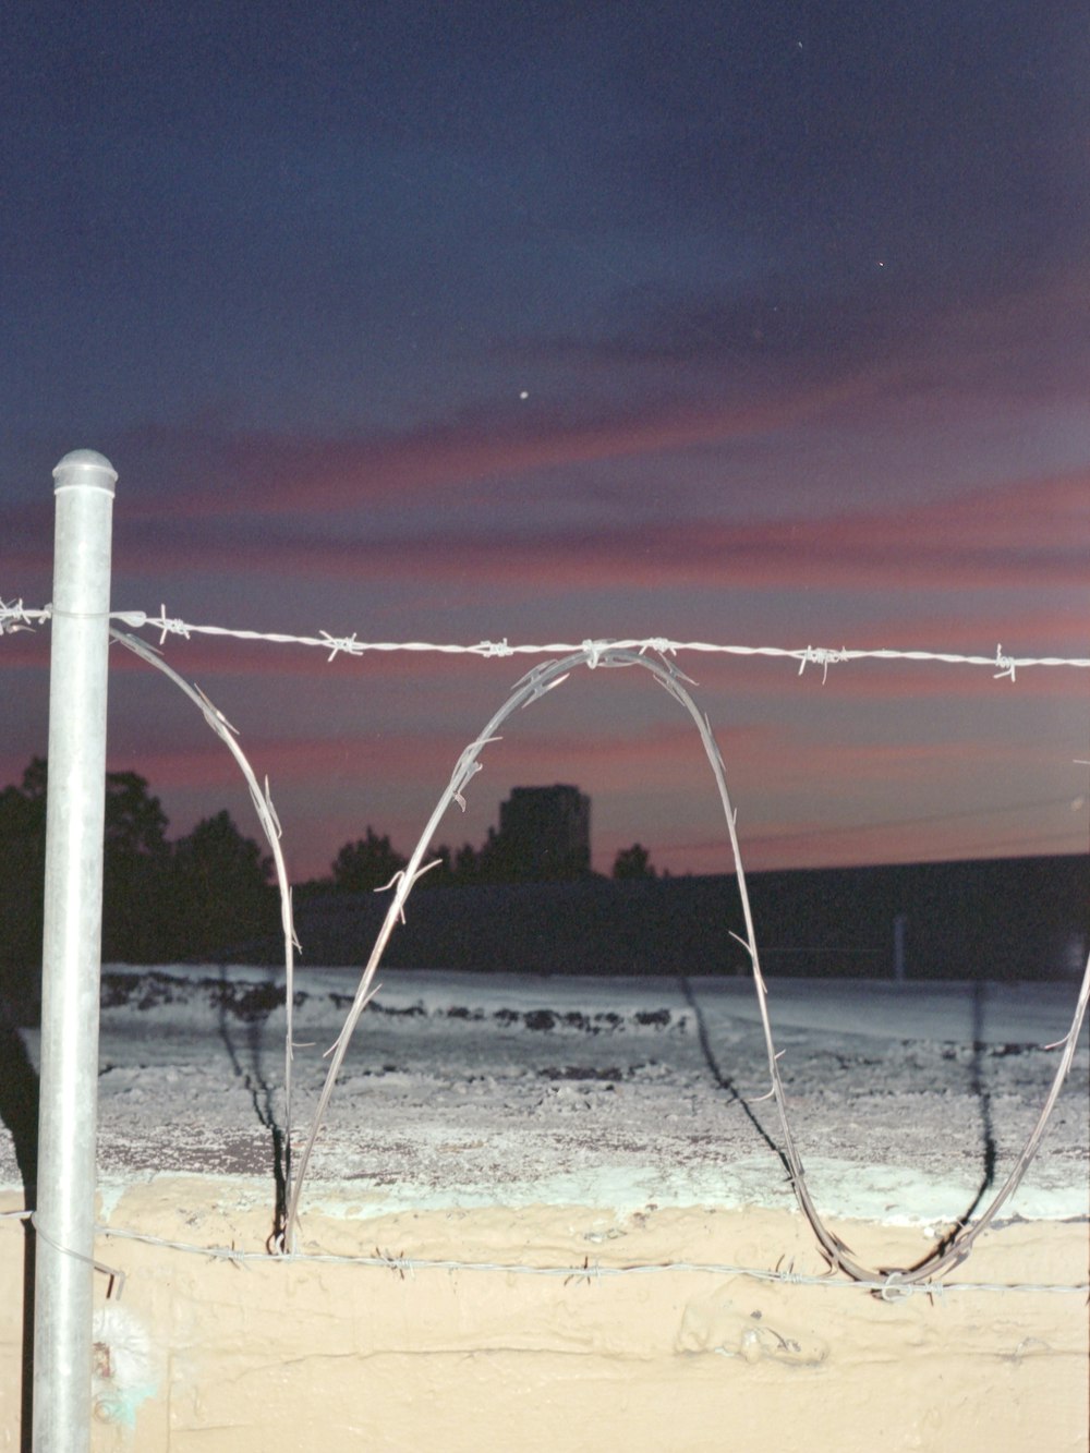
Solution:
<svg viewBox="0 0 1090 1453"><path fill-rule="evenodd" d="M36 1229L33 1210L4 1210L0 1221L31 1221ZM173 1241L167 1237L154 1237L147 1231L134 1231L128 1226L109 1226L96 1223L94 1232L99 1237L113 1241L134 1241L140 1245L160 1247L166 1251L176 1251L182 1255L203 1257L209 1261L230 1261L235 1266L262 1264L269 1266L347 1266L363 1270L392 1271L405 1280L414 1277L417 1271L469 1271L496 1273L500 1276L544 1276L562 1277L565 1282L605 1282L625 1276L655 1276L655 1274L696 1274L747 1277L754 1282L772 1282L785 1286L820 1286L828 1290L869 1292L884 1302L900 1302L910 1296L943 1298L950 1292L1032 1292L1078 1295L1090 1293L1090 1282L904 1282L901 1273L891 1271L888 1276L868 1282L850 1282L831 1274L830 1271L808 1273L795 1271L794 1260L786 1267L747 1267L728 1261L626 1261L622 1266L590 1261L583 1263L533 1263L533 1261L465 1261L458 1257L416 1257L405 1255L404 1251L394 1254L375 1247L369 1255L347 1255L330 1251L240 1251L237 1247L202 1247L192 1241ZM61 1247L61 1251L65 1248ZM77 1252L67 1252L77 1255ZM97 1263L96 1263L97 1266ZM102 1267L112 1276L121 1276L113 1267ZM131 1276L131 1273L129 1273Z"/></svg>

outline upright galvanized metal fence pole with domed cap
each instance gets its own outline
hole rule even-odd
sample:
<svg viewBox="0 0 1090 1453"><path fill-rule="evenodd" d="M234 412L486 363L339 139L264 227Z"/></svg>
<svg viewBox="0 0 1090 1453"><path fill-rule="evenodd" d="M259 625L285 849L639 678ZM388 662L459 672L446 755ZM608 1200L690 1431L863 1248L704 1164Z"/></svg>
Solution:
<svg viewBox="0 0 1090 1453"><path fill-rule="evenodd" d="M92 449L54 469L49 777L35 1213L33 1450L87 1453L99 1085L106 654L113 485Z"/></svg>

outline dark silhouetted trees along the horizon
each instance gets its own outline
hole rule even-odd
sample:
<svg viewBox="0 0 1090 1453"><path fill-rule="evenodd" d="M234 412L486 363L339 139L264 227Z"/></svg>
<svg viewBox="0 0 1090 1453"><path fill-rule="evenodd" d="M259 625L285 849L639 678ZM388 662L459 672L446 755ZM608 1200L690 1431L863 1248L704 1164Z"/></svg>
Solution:
<svg viewBox="0 0 1090 1453"><path fill-rule="evenodd" d="M48 767L35 757L19 786L0 790L0 995L38 994L45 876ZM227 811L167 838L167 815L135 772L106 774L102 956L105 962L169 963L240 958L280 933L272 859L244 837ZM439 866L419 888L525 882L510 846L490 828L485 843L429 854ZM372 827L336 854L328 878L298 895L366 892L385 886L407 859ZM590 876L590 875L587 875ZM654 878L639 843L616 854L616 879Z"/></svg>

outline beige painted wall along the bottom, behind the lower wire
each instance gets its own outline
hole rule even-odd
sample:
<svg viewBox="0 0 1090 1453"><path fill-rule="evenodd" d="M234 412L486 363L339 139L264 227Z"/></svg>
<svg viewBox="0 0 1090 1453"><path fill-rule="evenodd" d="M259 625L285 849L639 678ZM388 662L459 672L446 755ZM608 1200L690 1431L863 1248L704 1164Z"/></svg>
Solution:
<svg viewBox="0 0 1090 1453"><path fill-rule="evenodd" d="M267 1187L153 1177L119 1187L116 1229L259 1251ZM16 1205L9 1197L7 1205ZM299 1251L500 1263L670 1261L818 1273L795 1213L587 1206L375 1215L347 1191L310 1200ZM919 1229L840 1223L878 1264L919 1258ZM126 1273L113 1335L147 1343L150 1395L124 1388L94 1449L836 1450L1051 1453L1087 1447L1086 1296L948 1292L884 1302L857 1287L706 1270L618 1277L247 1260L103 1237ZM23 1231L0 1221L0 1449L19 1447ZM987 1234L962 1282L1081 1283L1086 1222ZM99 1277L105 1296L105 1279ZM125 1369L124 1347L100 1370ZM1046 1430L1046 1433L1045 1433Z"/></svg>

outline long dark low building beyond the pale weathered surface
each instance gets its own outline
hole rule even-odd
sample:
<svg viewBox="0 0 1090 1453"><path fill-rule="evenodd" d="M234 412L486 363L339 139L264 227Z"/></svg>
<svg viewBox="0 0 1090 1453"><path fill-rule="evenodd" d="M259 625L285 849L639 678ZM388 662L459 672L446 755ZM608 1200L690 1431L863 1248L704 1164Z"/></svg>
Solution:
<svg viewBox="0 0 1090 1453"><path fill-rule="evenodd" d="M892 978L905 921L908 978L1070 979L1086 965L1090 857L998 859L754 873L764 971L795 978ZM384 894L299 898L307 963L363 963ZM413 894L385 962L526 974L740 974L732 875L587 879ZM270 944L276 962L282 946Z"/></svg>

